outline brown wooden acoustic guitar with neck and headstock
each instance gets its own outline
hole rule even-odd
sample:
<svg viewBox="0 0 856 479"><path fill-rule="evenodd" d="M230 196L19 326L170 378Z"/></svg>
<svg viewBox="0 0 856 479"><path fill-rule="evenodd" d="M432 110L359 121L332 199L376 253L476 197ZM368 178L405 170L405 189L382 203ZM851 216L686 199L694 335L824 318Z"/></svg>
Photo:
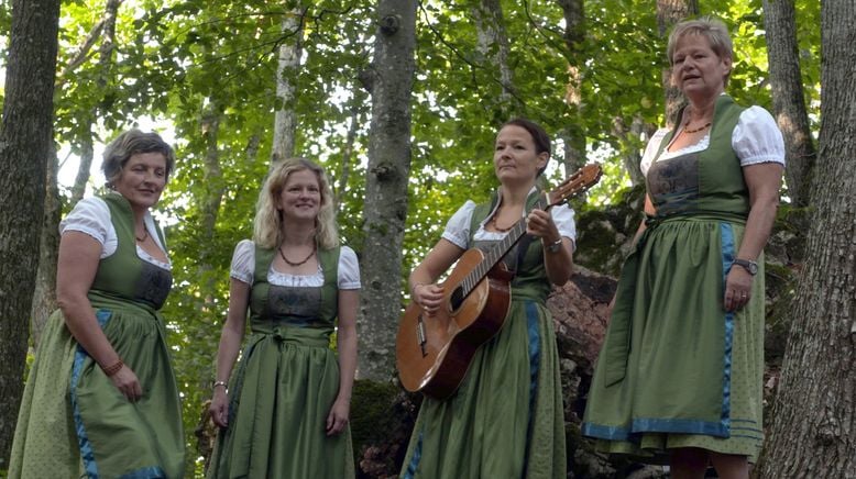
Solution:
<svg viewBox="0 0 856 479"><path fill-rule="evenodd" d="M596 183L601 175L597 165L582 167L547 193L538 208L546 211L567 201ZM424 314L415 301L407 305L395 344L398 379L406 390L436 399L454 393L475 350L505 323L513 275L502 258L525 233L526 220L520 219L486 254L479 248L464 252L441 283L443 305L434 315Z"/></svg>

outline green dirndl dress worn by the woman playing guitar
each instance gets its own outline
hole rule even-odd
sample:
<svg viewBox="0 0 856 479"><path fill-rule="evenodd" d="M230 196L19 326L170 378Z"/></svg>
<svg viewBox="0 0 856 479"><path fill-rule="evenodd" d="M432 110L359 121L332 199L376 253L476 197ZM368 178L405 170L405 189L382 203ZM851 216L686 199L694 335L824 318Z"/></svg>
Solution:
<svg viewBox="0 0 856 479"><path fill-rule="evenodd" d="M472 234L493 210L478 205ZM538 193L529 197L531 210ZM514 269L518 244L505 257ZM525 245L523 245L525 247ZM475 353L458 391L426 397L414 426L402 478L564 478L564 417L544 250L533 241L512 281L505 324Z"/></svg>

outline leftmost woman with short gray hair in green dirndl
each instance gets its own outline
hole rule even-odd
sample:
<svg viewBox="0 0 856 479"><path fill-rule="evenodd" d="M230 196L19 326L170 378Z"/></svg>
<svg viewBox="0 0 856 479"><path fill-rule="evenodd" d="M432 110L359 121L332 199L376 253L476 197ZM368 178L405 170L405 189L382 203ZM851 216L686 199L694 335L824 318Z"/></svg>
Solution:
<svg viewBox="0 0 856 479"><path fill-rule="evenodd" d="M55 311L28 377L11 478L184 477L178 388L160 310L173 277L151 214L175 166L156 133L108 145L111 190L59 224Z"/></svg>

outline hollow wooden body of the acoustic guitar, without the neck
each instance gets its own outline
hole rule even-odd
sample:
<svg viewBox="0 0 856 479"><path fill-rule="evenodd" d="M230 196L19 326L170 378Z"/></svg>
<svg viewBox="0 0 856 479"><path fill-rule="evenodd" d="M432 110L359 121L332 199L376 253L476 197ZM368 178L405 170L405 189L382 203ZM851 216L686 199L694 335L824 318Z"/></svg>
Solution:
<svg viewBox="0 0 856 479"><path fill-rule="evenodd" d="M475 350L505 324L511 305L512 278L500 263L463 299L456 296L461 282L484 259L478 248L468 249L449 278L441 283L443 305L429 316L410 302L402 316L396 339L398 378L405 389L446 399L467 375Z"/></svg>

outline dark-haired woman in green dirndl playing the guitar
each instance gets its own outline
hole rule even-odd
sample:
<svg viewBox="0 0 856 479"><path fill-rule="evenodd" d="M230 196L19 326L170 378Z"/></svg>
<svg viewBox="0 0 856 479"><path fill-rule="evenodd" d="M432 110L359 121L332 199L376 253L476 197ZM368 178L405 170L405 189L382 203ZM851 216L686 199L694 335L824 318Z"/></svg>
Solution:
<svg viewBox="0 0 856 479"><path fill-rule="evenodd" d="M536 187L550 158L550 138L536 123L502 126L494 147L500 188L491 201L468 201L442 238L410 274L413 301L431 321L447 307L435 281L469 248L502 241L526 218L533 241L520 241L503 263L514 271L503 327L472 358L448 399L426 396L403 464L404 478L557 478L566 476L559 358L546 308L551 283L571 276L573 211L535 208Z"/></svg>

